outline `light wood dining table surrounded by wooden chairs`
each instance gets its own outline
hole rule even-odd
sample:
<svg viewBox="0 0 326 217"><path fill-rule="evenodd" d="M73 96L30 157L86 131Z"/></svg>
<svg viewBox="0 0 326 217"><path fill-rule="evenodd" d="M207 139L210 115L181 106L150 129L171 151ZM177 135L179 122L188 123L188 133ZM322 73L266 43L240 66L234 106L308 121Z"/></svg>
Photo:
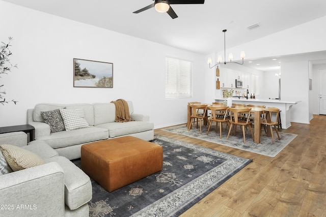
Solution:
<svg viewBox="0 0 326 217"><path fill-rule="evenodd" d="M211 105L211 104L205 104L205 103L201 103L201 104L216 106L216 107L220 106L220 105ZM263 113L263 109L264 108L260 108L260 107L251 107L251 110L250 110L250 113L252 113L254 115L253 117L254 117L254 142L255 143L260 143L260 137L261 137L261 128L260 128L261 117L260 116ZM208 108L207 108L207 110L208 110ZM192 115L192 107L191 107L191 104L188 104L187 105L187 129L189 129L189 127L190 127L190 129L192 128L191 115ZM268 119L268 115L266 115L266 118ZM266 130L267 130L267 136L271 136L270 129L267 128Z"/></svg>

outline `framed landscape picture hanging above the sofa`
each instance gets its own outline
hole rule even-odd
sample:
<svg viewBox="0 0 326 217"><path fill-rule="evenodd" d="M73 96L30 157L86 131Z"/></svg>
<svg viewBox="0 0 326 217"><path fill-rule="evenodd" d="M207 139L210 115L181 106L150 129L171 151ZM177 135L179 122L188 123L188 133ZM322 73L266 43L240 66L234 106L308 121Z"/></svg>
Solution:
<svg viewBox="0 0 326 217"><path fill-rule="evenodd" d="M74 58L73 86L113 88L113 63Z"/></svg>

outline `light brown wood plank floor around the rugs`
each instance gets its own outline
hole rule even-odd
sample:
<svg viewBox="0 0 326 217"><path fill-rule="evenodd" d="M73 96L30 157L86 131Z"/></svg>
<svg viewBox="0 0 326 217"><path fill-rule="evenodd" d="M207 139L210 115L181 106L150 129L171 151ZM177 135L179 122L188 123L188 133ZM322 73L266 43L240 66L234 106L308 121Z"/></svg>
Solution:
<svg viewBox="0 0 326 217"><path fill-rule="evenodd" d="M314 115L310 125L291 125L282 132L298 136L275 158L155 130L158 135L253 159L181 216L326 216L326 115Z"/></svg>

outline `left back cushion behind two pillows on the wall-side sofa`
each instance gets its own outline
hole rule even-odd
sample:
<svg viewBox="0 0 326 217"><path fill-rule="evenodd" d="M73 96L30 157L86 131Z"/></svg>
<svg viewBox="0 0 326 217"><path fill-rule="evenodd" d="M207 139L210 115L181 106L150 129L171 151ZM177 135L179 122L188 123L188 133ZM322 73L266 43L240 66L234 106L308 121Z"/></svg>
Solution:
<svg viewBox="0 0 326 217"><path fill-rule="evenodd" d="M34 121L44 122L41 112L60 109L66 107L67 109L83 109L85 113L85 119L90 126L94 126L94 109L93 105L88 103L80 104L51 104L51 103L40 103L36 104L33 110Z"/></svg>

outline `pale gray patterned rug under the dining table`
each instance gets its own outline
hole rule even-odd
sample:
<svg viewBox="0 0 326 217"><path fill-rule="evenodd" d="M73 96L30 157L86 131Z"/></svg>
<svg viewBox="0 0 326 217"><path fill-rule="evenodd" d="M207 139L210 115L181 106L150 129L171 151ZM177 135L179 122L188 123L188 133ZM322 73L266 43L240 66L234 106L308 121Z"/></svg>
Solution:
<svg viewBox="0 0 326 217"><path fill-rule="evenodd" d="M185 127L185 125L176 126L168 129L162 129L163 131L171 132L180 134L183 136L193 137L196 139L205 140L208 142L214 142L217 144L238 148L241 150L251 151L254 153L263 154L268 157L275 157L277 154L286 147L297 135L296 134L289 134L289 133L281 133L280 137L281 140L278 139L276 132L273 130L274 140L275 144L273 144L273 141L271 140L271 137L267 136L261 136L260 143L257 144L253 141L253 138L250 134L250 131L246 131L246 144L243 143L243 136L242 131L240 128L237 128L236 134L234 135L234 130L231 131L231 134L229 136L229 139L227 140L228 130L225 129L225 126L223 126L222 130L222 139L220 139L220 128L218 129L218 132L215 132L215 124L212 124L212 127L207 135L207 126L202 126L202 134L199 133L199 127L196 128L196 125L192 127L191 130L188 131L188 129ZM262 131L263 132L263 131ZM263 132L262 135L265 133Z"/></svg>

